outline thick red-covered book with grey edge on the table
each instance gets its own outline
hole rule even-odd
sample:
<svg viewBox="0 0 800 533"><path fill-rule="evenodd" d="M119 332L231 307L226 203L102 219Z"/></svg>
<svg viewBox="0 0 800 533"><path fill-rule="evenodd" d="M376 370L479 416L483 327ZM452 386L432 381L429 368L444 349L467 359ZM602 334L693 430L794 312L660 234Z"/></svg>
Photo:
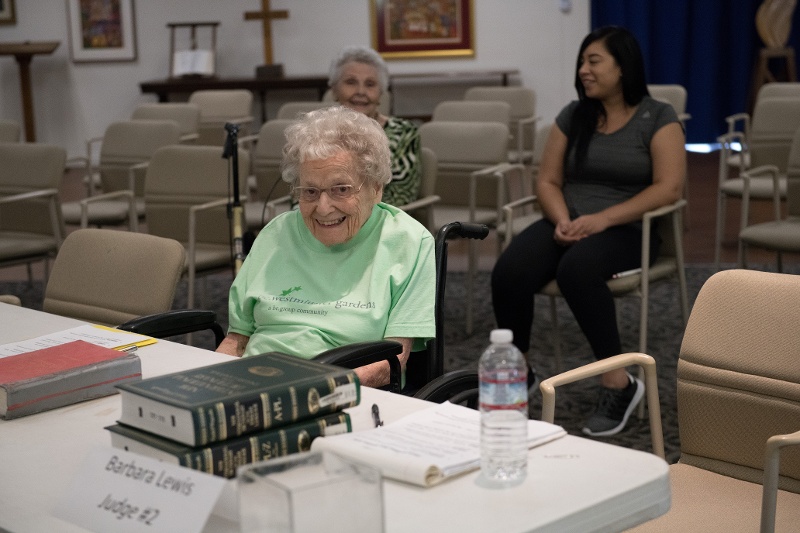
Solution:
<svg viewBox="0 0 800 533"><path fill-rule="evenodd" d="M85 341L0 358L0 418L6 420L117 392L142 379L136 354Z"/></svg>

